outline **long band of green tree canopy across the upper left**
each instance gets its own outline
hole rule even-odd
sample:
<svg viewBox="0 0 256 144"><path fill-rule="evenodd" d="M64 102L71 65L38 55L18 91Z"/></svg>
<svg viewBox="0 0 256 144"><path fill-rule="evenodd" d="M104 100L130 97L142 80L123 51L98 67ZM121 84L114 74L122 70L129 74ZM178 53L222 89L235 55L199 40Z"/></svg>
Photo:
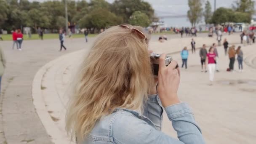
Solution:
<svg viewBox="0 0 256 144"><path fill-rule="evenodd" d="M69 24L83 27L104 28L111 25L131 22L130 17L136 11L144 13L148 25L154 16L152 6L142 0L68 0ZM0 29L8 32L13 27L37 27L59 29L65 24L64 0L44 1L42 3L29 0L0 0ZM134 22L134 21L133 21ZM142 25L141 25L142 26Z"/></svg>

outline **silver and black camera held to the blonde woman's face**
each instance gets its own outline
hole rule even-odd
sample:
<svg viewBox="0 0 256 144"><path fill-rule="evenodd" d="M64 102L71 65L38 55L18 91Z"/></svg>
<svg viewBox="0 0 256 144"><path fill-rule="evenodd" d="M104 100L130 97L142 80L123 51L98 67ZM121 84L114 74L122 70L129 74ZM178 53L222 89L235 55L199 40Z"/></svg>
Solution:
<svg viewBox="0 0 256 144"><path fill-rule="evenodd" d="M151 53L150 54L150 61L152 64L152 70L153 70L153 74L155 77L157 77L158 75L158 69L159 69L159 58L160 58L160 54L156 54L156 53ZM172 61L172 57L171 56L166 56L165 57L165 66L168 66L171 61Z"/></svg>

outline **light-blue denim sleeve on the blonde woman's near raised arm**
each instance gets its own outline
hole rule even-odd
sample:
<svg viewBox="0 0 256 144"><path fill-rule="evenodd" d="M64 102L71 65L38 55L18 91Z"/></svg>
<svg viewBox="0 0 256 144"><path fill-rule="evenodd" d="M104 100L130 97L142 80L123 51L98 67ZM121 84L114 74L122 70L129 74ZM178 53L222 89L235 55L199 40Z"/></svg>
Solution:
<svg viewBox="0 0 256 144"><path fill-rule="evenodd" d="M114 144L205 144L187 104L176 104L165 110L179 139L156 130L131 113L121 113L112 121Z"/></svg>

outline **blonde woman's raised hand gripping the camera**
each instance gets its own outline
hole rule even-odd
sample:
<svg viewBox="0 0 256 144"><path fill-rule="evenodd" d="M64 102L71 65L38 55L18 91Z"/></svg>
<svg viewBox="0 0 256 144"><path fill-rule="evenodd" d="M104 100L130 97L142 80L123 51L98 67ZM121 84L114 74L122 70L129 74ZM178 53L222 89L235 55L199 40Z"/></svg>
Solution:
<svg viewBox="0 0 256 144"><path fill-rule="evenodd" d="M159 59L157 91L163 107L168 107L180 103L177 96L180 77L178 70L175 69L177 62L172 61L171 64L166 67L165 56L165 54L162 54Z"/></svg>

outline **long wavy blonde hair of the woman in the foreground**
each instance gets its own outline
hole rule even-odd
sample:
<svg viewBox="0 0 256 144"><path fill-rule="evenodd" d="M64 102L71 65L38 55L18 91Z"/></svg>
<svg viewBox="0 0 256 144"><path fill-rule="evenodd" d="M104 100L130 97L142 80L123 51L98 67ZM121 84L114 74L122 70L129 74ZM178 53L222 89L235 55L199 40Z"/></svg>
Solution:
<svg viewBox="0 0 256 144"><path fill-rule="evenodd" d="M142 111L153 80L147 42L131 29L111 27L96 38L77 75L66 130L83 139L117 107Z"/></svg>

